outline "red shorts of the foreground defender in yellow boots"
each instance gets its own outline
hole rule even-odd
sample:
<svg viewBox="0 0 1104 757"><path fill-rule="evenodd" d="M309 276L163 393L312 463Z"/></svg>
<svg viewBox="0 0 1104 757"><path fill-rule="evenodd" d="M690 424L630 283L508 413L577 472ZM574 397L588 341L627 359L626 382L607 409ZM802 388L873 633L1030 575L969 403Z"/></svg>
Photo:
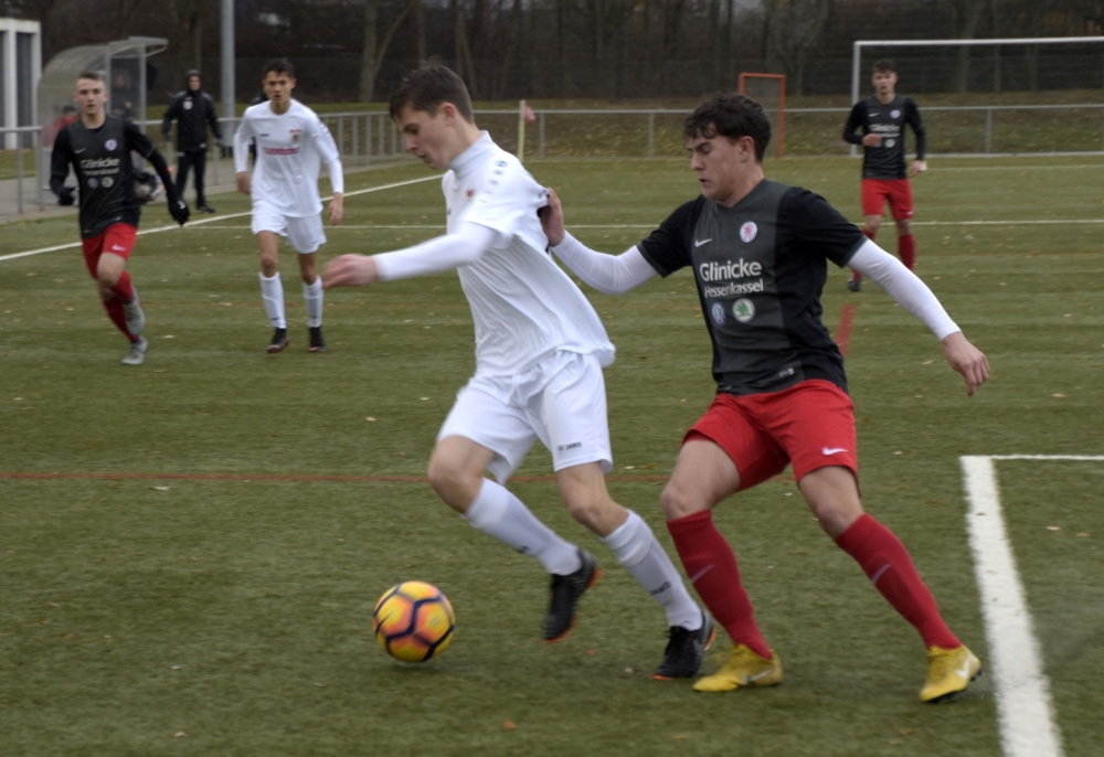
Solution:
<svg viewBox="0 0 1104 757"><path fill-rule="evenodd" d="M696 438L715 443L732 458L741 490L777 476L790 461L798 481L828 466L859 478L854 405L822 378L767 394L718 394L682 444Z"/></svg>

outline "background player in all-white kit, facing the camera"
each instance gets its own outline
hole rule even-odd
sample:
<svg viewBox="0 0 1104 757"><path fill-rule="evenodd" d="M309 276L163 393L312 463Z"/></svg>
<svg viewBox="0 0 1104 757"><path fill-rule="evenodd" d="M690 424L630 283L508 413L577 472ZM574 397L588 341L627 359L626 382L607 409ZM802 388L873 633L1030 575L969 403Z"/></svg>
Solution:
<svg viewBox="0 0 1104 757"><path fill-rule="evenodd" d="M247 108L242 116L234 135L234 169L238 191L253 199L253 233L261 247L261 298L274 329L268 352L280 352L288 345L284 284L277 266L280 236L287 236L299 253L310 351L326 352L322 282L315 262L315 253L326 244L318 169L325 161L333 189L330 225L337 226L344 214L341 157L330 130L315 111L291 99L295 68L290 61L269 61L263 76L268 102ZM248 173L251 139L257 145L252 181Z"/></svg>

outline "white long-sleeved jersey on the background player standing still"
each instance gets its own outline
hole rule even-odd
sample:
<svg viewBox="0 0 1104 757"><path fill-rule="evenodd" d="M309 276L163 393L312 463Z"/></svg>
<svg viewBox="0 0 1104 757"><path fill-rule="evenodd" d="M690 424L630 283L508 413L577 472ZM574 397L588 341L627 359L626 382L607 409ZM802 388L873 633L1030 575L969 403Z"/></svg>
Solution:
<svg viewBox="0 0 1104 757"><path fill-rule="evenodd" d="M261 103L245 110L234 135L234 170L247 171L250 140L257 142L251 198L288 217L306 217L322 212L318 196L321 161L330 174L335 192L344 192L341 157L326 125L314 110L291 100L284 115Z"/></svg>

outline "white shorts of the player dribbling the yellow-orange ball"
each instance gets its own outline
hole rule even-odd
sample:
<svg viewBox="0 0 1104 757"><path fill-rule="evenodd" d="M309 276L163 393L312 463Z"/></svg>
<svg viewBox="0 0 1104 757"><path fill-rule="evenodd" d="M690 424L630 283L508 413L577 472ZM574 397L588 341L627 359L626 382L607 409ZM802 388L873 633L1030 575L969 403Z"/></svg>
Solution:
<svg viewBox="0 0 1104 757"><path fill-rule="evenodd" d="M456 395L437 441L449 436L495 452L488 468L500 483L537 439L552 452L553 470L601 462L608 473L613 454L598 359L556 352L516 376L476 374Z"/></svg>

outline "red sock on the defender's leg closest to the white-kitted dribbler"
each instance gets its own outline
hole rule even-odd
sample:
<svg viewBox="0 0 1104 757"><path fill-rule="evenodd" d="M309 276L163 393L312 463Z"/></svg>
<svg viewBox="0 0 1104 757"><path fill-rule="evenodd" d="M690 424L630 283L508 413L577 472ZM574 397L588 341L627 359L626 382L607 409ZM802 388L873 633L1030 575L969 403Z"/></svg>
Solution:
<svg viewBox="0 0 1104 757"><path fill-rule="evenodd" d="M713 525L709 510L667 522L675 540L682 567L698 596L705 603L732 642L746 644L762 658L771 659L758 626L755 625L751 600L740 583L740 569L732 547Z"/></svg>

